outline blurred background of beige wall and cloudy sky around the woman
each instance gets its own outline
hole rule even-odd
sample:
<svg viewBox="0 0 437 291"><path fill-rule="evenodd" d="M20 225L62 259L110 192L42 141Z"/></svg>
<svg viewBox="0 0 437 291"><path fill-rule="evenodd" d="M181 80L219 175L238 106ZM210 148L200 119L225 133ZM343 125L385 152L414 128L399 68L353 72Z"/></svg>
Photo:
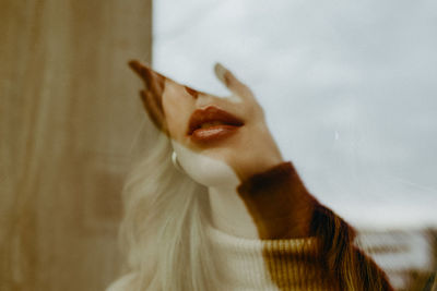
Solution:
<svg viewBox="0 0 437 291"><path fill-rule="evenodd" d="M213 64L233 70L397 289L432 290L435 1L0 0L0 23L1 291L103 290L122 270L120 190L139 131L154 137L132 58L217 95Z"/></svg>

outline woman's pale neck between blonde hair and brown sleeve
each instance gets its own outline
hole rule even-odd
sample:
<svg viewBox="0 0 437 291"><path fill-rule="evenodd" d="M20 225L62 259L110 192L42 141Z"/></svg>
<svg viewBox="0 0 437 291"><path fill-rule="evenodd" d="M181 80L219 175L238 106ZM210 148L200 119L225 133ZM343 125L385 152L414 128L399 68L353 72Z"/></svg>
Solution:
<svg viewBox="0 0 437 291"><path fill-rule="evenodd" d="M238 238L259 239L257 227L237 185L209 187L211 222L214 228Z"/></svg>

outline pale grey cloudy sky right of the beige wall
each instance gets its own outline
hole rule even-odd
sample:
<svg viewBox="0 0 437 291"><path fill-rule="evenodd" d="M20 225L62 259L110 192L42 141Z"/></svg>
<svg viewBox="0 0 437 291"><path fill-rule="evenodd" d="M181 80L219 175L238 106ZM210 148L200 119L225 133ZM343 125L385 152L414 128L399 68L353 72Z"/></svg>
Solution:
<svg viewBox="0 0 437 291"><path fill-rule="evenodd" d="M154 1L153 66L255 92L285 159L357 227L437 226L437 2Z"/></svg>

